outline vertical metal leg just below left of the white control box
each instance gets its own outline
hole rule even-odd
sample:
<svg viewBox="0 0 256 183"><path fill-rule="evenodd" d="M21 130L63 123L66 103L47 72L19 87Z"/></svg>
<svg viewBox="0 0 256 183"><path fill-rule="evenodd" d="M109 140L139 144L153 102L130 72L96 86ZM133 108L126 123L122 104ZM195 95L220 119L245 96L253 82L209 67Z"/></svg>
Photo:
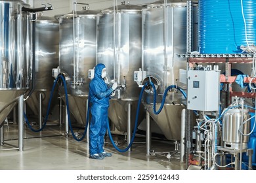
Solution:
<svg viewBox="0 0 256 183"><path fill-rule="evenodd" d="M181 110L181 154L180 154L180 161L184 163L185 161L185 127L186 127L186 108Z"/></svg>

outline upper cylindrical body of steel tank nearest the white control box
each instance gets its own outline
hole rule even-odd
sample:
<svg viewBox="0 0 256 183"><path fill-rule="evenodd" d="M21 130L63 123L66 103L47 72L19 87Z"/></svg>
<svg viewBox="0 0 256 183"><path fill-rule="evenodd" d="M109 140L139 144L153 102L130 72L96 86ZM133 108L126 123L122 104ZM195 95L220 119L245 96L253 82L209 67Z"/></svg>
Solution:
<svg viewBox="0 0 256 183"><path fill-rule="evenodd" d="M165 16L166 14L166 16ZM179 80L186 69L186 3L142 9L142 71L160 81L158 93Z"/></svg>

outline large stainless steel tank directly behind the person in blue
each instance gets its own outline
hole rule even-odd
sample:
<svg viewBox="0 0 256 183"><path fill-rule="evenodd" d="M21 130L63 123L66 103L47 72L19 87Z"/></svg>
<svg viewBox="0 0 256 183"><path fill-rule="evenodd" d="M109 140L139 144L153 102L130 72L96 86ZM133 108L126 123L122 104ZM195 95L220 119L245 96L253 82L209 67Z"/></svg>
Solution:
<svg viewBox="0 0 256 183"><path fill-rule="evenodd" d="M125 86L110 100L108 111L119 131L127 131L128 113L132 129L135 124L140 89L133 82L133 72L141 67L141 9L123 3L97 14L96 63L104 63L110 78ZM143 117L141 110L139 123Z"/></svg>

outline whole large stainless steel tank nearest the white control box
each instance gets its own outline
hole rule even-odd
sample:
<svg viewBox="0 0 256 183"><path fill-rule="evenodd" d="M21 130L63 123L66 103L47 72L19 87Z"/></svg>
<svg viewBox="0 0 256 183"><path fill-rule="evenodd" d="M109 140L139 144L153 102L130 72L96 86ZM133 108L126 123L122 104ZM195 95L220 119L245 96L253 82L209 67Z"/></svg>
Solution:
<svg viewBox="0 0 256 183"><path fill-rule="evenodd" d="M163 92L179 82L179 69L186 71L186 3L184 1L157 1L142 9L142 81L151 80L157 90L156 110L161 105ZM196 11L194 12L196 16ZM181 139L181 110L186 100L180 92L169 92L160 114L152 109L152 88L146 88L143 104L150 116L169 140Z"/></svg>

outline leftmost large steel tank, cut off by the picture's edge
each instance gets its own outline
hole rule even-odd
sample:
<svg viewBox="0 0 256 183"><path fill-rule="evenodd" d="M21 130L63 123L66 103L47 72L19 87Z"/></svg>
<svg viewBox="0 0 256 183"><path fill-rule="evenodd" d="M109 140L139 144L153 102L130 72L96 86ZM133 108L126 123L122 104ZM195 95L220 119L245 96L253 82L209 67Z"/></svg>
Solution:
<svg viewBox="0 0 256 183"><path fill-rule="evenodd" d="M22 7L30 5L0 1L0 126L16 105L14 99L30 88L30 13Z"/></svg>

